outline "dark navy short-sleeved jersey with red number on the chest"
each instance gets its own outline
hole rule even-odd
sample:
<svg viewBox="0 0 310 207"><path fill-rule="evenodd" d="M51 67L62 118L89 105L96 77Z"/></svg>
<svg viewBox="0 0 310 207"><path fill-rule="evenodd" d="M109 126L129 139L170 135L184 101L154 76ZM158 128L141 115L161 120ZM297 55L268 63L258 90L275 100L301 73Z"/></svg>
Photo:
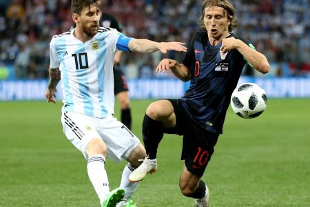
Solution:
<svg viewBox="0 0 310 207"><path fill-rule="evenodd" d="M234 37L254 48L246 39ZM222 60L221 45L211 46L207 32L198 31L189 43L183 60L191 71L189 88L181 98L187 115L199 126L216 133L223 132L231 93L247 63L238 50L229 51Z"/></svg>

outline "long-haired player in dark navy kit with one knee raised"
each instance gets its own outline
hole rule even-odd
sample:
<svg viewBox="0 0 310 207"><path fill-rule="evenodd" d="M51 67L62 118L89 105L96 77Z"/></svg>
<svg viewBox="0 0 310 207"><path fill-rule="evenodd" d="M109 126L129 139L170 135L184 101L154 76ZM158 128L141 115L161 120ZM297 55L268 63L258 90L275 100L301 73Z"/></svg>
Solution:
<svg viewBox="0 0 310 207"><path fill-rule="evenodd" d="M237 21L235 8L228 0L202 3L200 30L189 43L182 63L163 59L156 72L171 70L178 79L190 81L180 99L151 103L143 119L143 142L147 157L130 175L141 181L157 170L156 153L164 133L183 135L181 159L185 167L180 175L180 190L195 200L195 206L209 206L209 189L201 179L214 152L231 93L242 68L249 64L263 74L269 71L265 55L232 30Z"/></svg>

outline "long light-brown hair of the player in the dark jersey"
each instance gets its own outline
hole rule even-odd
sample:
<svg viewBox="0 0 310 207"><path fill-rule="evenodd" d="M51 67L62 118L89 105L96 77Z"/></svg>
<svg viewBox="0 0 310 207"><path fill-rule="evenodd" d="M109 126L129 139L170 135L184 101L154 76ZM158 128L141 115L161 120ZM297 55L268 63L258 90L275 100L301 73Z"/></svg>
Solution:
<svg viewBox="0 0 310 207"><path fill-rule="evenodd" d="M237 27L238 21L235 16L236 8L229 2L229 0L205 0L203 1L201 8L200 17L200 28L205 30L205 23L203 22L203 17L205 16L205 8L210 6L219 6L223 8L227 14L227 18L230 20L230 25L228 26L229 32Z"/></svg>

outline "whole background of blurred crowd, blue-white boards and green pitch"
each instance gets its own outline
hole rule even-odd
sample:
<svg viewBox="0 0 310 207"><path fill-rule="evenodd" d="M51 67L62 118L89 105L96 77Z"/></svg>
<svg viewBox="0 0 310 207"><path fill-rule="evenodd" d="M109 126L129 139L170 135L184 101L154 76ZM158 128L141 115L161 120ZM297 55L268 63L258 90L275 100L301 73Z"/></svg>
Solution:
<svg viewBox="0 0 310 207"><path fill-rule="evenodd" d="M187 42L198 28L201 2L105 0L103 10L114 14L129 37ZM204 175L211 204L310 206L309 1L232 2L239 21L234 32L253 41L271 63L269 74L244 70L240 82L258 83L270 99L257 119L227 112L224 135ZM61 101L43 102L50 39L71 25L69 0L0 0L0 206L98 206L83 156L63 135ZM177 52L167 56L183 58ZM180 97L187 88L171 73L154 74L162 57L156 52L121 59L138 137L152 99ZM181 141L168 137L159 149L158 175L147 177L134 195L138 206L192 206L178 190ZM112 188L124 165L107 162Z"/></svg>

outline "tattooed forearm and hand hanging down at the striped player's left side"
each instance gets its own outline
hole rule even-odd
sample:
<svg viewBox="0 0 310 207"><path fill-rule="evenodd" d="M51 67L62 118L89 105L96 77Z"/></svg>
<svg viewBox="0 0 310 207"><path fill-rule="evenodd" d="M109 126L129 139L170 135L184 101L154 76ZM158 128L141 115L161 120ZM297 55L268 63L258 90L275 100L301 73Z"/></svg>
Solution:
<svg viewBox="0 0 310 207"><path fill-rule="evenodd" d="M48 68L50 73L50 81L48 81L48 88L45 91L46 101L56 103L56 86L61 80L61 72L59 68Z"/></svg>

